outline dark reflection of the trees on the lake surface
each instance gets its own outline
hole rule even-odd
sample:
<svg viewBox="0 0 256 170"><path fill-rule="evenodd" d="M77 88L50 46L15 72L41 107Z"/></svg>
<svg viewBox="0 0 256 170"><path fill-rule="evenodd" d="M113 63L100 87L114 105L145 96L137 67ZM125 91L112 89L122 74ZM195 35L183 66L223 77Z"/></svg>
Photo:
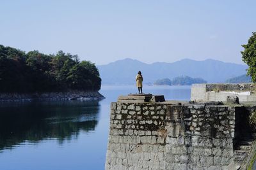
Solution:
<svg viewBox="0 0 256 170"><path fill-rule="evenodd" d="M97 101L4 103L0 105L0 150L24 141L37 143L55 138L62 143L94 131L98 122Z"/></svg>

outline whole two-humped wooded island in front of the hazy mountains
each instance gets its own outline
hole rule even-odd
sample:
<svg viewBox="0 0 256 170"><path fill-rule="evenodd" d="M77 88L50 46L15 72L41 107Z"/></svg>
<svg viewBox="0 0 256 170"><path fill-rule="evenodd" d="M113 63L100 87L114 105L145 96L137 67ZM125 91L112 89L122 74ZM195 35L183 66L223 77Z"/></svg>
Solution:
<svg viewBox="0 0 256 170"><path fill-rule="evenodd" d="M191 78L189 76L179 76L170 80L169 78L163 78L156 80L154 85L191 85L193 83L207 83L202 78Z"/></svg>

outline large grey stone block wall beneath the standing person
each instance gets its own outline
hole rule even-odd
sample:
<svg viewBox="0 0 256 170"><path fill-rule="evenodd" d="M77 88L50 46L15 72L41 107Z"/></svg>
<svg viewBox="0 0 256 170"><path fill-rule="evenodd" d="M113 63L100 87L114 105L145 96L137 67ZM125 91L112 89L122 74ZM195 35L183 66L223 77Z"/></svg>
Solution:
<svg viewBox="0 0 256 170"><path fill-rule="evenodd" d="M236 107L111 103L105 169L234 169Z"/></svg>

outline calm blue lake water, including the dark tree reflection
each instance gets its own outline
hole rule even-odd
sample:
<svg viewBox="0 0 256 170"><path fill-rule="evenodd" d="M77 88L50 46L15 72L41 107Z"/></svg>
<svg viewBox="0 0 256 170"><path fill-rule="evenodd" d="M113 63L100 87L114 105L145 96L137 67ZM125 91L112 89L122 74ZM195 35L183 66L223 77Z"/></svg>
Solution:
<svg viewBox="0 0 256 170"><path fill-rule="evenodd" d="M0 169L104 169L110 103L134 86L102 86L102 101L0 104ZM189 100L191 87L143 87L165 99Z"/></svg>

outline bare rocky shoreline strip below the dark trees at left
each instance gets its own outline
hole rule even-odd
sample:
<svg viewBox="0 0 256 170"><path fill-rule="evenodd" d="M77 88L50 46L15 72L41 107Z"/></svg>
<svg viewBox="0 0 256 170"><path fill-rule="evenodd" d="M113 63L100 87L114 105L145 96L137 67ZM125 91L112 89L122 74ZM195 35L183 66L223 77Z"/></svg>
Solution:
<svg viewBox="0 0 256 170"><path fill-rule="evenodd" d="M69 92L34 92L34 93L0 93L0 102L12 101L70 101L70 100L98 100L104 99L97 91L69 91Z"/></svg>

